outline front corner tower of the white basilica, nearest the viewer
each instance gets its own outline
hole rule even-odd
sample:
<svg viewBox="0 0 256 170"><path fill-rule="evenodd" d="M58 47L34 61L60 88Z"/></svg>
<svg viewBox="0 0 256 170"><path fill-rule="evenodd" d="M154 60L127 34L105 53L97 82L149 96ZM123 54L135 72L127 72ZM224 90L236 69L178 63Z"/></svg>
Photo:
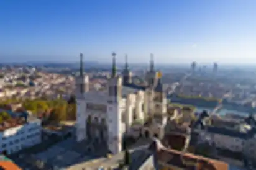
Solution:
<svg viewBox="0 0 256 170"><path fill-rule="evenodd" d="M122 76L116 75L116 53L112 53L112 74L108 82L108 109L107 120L109 120L109 150L113 154L122 151L122 122L121 107L122 100Z"/></svg>

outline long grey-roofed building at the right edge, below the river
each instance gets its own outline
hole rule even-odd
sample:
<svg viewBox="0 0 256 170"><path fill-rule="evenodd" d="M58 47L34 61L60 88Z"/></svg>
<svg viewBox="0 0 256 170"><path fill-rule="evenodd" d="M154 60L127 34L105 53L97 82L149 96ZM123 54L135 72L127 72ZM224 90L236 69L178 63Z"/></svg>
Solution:
<svg viewBox="0 0 256 170"><path fill-rule="evenodd" d="M256 121L252 115L245 118L244 123L236 127L205 125L204 117L198 119L193 125L193 130L199 132L199 142L215 145L237 153L242 153L246 158L256 159Z"/></svg>

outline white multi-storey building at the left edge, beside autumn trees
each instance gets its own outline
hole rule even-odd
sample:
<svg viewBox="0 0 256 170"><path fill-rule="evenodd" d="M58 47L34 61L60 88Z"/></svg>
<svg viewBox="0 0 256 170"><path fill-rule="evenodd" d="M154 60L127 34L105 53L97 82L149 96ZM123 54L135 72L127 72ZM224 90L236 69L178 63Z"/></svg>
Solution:
<svg viewBox="0 0 256 170"><path fill-rule="evenodd" d="M3 123L0 125L0 153L12 154L41 143L41 130L41 120L35 117L28 117L23 123Z"/></svg>

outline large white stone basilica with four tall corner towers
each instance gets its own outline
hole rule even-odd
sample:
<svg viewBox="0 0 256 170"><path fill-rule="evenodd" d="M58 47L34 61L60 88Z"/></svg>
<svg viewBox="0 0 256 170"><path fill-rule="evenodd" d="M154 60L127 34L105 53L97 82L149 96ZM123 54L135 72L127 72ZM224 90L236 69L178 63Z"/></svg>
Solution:
<svg viewBox="0 0 256 170"><path fill-rule="evenodd" d="M122 138L132 123L144 122L153 114L167 112L167 99L161 79L154 69L153 56L147 72L147 86L132 83L126 56L122 76L116 75L116 54L112 53L112 76L106 91L89 89L89 78L83 74L83 55L80 55L80 75L76 77L76 140L97 140L106 143L109 151L122 151Z"/></svg>

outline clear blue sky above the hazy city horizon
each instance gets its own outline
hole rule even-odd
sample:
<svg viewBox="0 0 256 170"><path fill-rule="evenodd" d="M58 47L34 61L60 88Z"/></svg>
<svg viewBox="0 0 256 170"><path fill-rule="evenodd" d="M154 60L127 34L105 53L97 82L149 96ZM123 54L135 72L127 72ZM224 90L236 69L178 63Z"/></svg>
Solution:
<svg viewBox="0 0 256 170"><path fill-rule="evenodd" d="M255 0L1 0L0 59L256 63Z"/></svg>

